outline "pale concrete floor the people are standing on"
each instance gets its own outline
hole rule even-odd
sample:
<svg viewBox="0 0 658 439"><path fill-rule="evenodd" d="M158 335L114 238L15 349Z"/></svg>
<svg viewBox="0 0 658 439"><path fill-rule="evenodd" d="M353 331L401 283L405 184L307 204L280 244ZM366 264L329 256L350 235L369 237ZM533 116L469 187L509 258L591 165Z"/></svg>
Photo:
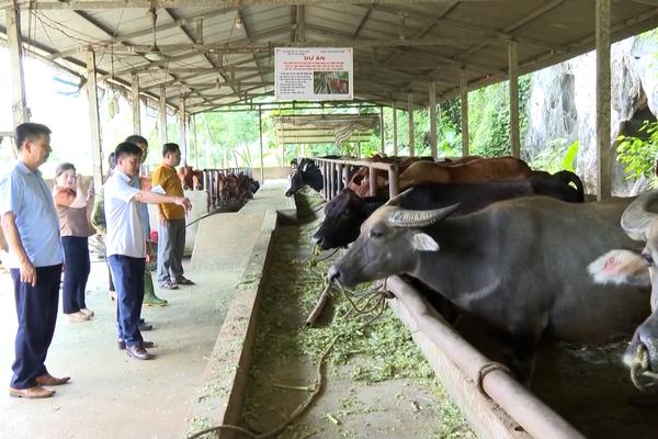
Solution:
<svg viewBox="0 0 658 439"><path fill-rule="evenodd" d="M249 216L288 206L282 196L284 185L265 184L247 204ZM197 285L159 292L170 305L144 309L143 316L155 326L144 333L145 339L156 342L152 361L131 360L117 350L105 264L92 263L87 304L97 316L71 324L60 314L46 365L54 375L72 380L55 387L57 394L48 399L10 398L2 391L11 379L16 317L11 279L0 272L0 438L177 437L197 395L234 285L242 274L245 267L236 261L247 261L256 240L250 232L254 236L260 233L260 225L237 219L217 221L223 230L211 240L217 249L230 248L234 258L217 251L214 262L206 259L198 267L189 264L186 275ZM234 227L239 232L226 233ZM242 245L236 245L238 241Z"/></svg>

